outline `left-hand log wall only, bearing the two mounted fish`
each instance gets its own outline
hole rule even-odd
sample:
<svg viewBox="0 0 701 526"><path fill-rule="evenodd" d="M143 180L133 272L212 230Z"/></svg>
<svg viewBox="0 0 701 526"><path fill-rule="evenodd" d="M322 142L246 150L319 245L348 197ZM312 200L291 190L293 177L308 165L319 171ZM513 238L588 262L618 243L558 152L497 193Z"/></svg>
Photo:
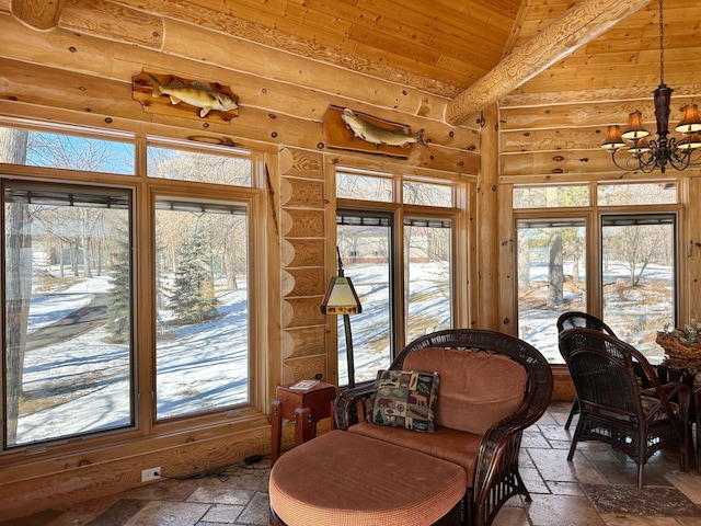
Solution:
<svg viewBox="0 0 701 526"><path fill-rule="evenodd" d="M333 165L474 180L476 119L448 126L441 121L446 101L439 96L237 41L222 31L227 27L207 28L209 22L202 20L185 23L126 5L114 13L113 2L65 0L58 25L36 31L56 23L50 13L41 12L46 5L38 2L35 11L18 13L20 22L10 3L0 0L0 118L5 123L67 123L264 153L266 197L258 219L265 228L258 241L268 268L262 279L268 287L262 301L268 323L253 408L235 419L169 424L153 434L146 425L127 437L100 441L90 450L68 445L49 456L4 456L0 516L115 494L139 485L145 466L180 477L269 453L275 387L315 375L337 381L336 347L330 340L336 319L319 310L335 274L335 244L327 242L335 230L335 199L327 187ZM227 122L146 112L133 96L133 77L142 71L227 85L239 98L238 116ZM344 96L337 84L344 85ZM322 121L330 105L424 128L428 144L412 148L407 160L329 150ZM22 174L14 167L2 169ZM330 426L321 423L321 430ZM292 428L286 426L283 447L291 445Z"/></svg>

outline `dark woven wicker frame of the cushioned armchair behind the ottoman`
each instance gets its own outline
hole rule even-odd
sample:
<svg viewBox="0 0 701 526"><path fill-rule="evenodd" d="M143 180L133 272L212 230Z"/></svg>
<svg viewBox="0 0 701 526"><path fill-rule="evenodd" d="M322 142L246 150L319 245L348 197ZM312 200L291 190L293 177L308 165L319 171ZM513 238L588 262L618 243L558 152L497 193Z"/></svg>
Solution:
<svg viewBox="0 0 701 526"><path fill-rule="evenodd" d="M520 407L517 405L516 412L499 419L482 435L466 433L470 435L470 439L476 442L478 447L474 448L476 457L473 459L474 476L473 478L468 476L468 491L463 498L464 521L468 524L489 525L502 505L512 496L521 494L530 501L530 494L518 470L518 456L524 430L533 424L550 403L553 388L550 365L538 350L517 338L484 330L453 329L416 339L397 356L390 369L403 369L406 358L421 350L424 350L422 351L424 354L436 352L436 357L440 356L441 352L453 351L503 356L520 364L526 371L525 396L522 402L519 402ZM416 356L422 353L416 353ZM440 363L435 365L433 370L437 370L441 377L438 399L438 407L440 407L440 397L445 395L443 378L450 374L455 375L456 371L440 370ZM461 382L462 386L466 384L466 381ZM336 399L334 416L338 428L376 425L361 424L367 420L372 391L374 384L365 382L354 389L345 390ZM436 434L439 434L439 427L440 425L437 424ZM412 431L407 433L413 434L417 443L428 435ZM429 438L426 437L426 439ZM439 448L433 449L430 454L446 460L455 458L455 451L445 451L445 455L441 455Z"/></svg>

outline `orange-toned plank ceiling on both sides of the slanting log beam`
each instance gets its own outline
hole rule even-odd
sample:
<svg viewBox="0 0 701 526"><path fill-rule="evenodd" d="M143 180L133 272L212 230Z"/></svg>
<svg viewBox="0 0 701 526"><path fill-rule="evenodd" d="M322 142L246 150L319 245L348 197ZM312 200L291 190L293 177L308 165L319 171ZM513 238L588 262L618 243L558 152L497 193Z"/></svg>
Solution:
<svg viewBox="0 0 701 526"><path fill-rule="evenodd" d="M520 79L515 82L518 85L514 93L630 88L650 92L659 78L655 0L11 0L11 3L13 13L30 25L38 27L39 20L48 28L58 24L83 33L90 33L91 27L80 12L91 5L102 11L105 19L112 16L115 27L128 24L124 12L115 7L146 11L447 99L469 89L498 68L506 57L542 37L568 10L588 4L586 9L593 16L589 28L604 27L606 23L614 25L585 44L590 37L583 37L577 33L579 28L571 27L572 21L560 27L558 38L570 39L567 56L548 68L542 64L547 57L536 57L533 53L524 57L527 61L541 60L536 64L539 72L528 82ZM629 4L627 12L617 7L621 3ZM614 15L607 18L607 13L617 9ZM673 87L688 84L701 66L701 2L667 0L664 21L665 80ZM108 24L93 25L93 31L104 33L106 27ZM157 33L153 32L154 37ZM134 38L138 43L143 36ZM545 37L537 50L547 53L552 43L552 36Z"/></svg>

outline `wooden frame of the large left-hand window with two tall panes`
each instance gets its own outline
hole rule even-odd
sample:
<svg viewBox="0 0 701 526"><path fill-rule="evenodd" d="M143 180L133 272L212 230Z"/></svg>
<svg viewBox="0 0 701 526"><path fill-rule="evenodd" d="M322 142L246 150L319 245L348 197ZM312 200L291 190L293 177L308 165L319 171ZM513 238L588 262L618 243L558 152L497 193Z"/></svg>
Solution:
<svg viewBox="0 0 701 526"><path fill-rule="evenodd" d="M265 198L265 165L266 153L243 150L252 162L251 187L228 186L214 183L197 183L191 181L173 181L148 178L146 170L146 152L149 140L159 147L182 148L202 152L215 152L218 156L237 155L241 150L207 144L193 144L180 139L149 137L130 133L112 133L111 130L94 130L71 125L43 125L22 119L0 118L0 126L26 128L47 133L66 133L78 137L103 138L130 142L135 147L135 174L115 174L105 172L73 171L58 168L33 167L27 164L0 163L0 179L16 181L43 181L46 183L67 184L73 186L97 186L127 190L133 196L131 243L133 243L133 340L135 369L133 386L136 391L135 425L128 430L100 432L90 436L81 436L78 441L59 441L57 443L39 443L26 448L13 448L0 451L0 469L26 462L26 455L32 454L33 461L50 461L53 458L68 458L81 455L87 448L107 451L115 446L139 443L145 450L153 449L162 441L172 442L182 434L199 436L198 430L211 430L209 436L231 433L232 431L254 430L267 423L267 378L271 375L271 358L267 348L268 334L263 322L267 312L268 294L265 271L252 273L249 278L250 300L250 403L240 408L222 408L206 414L185 415L169 421L154 421L152 409L152 391L154 389L154 209L152 195L154 192L184 197L186 199L209 196L214 201L232 201L245 203L250 214L249 221L249 264L251 268L266 268L269 264L269 236L266 231L269 217L266 213ZM3 256L4 258L4 256ZM135 297L138 290L138 300ZM1 321L1 320L0 320ZM3 387L4 389L4 387ZM4 405L4 403L3 403ZM4 413L4 409L2 410ZM1 414L4 419L4 414ZM215 431L220 430L220 431ZM211 433L215 435L211 435ZM173 438L169 438L173 437ZM204 435L203 435L204 437Z"/></svg>

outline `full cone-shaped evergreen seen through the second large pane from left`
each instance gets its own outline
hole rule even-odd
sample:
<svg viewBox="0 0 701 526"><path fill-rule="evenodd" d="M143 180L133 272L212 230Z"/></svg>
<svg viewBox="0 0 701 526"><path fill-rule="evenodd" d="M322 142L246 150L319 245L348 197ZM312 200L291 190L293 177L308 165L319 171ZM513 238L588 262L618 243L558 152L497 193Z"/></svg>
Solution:
<svg viewBox="0 0 701 526"><path fill-rule="evenodd" d="M171 308L177 315L179 323L199 323L217 318L219 301L215 297L211 250L198 225L181 248L172 290Z"/></svg>

